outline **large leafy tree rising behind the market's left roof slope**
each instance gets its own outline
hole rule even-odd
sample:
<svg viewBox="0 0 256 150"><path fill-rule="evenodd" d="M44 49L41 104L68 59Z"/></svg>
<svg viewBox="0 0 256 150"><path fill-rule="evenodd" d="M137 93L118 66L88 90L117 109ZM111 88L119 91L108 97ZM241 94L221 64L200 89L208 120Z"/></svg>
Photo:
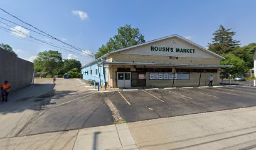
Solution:
<svg viewBox="0 0 256 150"><path fill-rule="evenodd" d="M133 28L131 25L126 24L119 27L118 33L114 37L110 37L109 42L99 47L95 58L100 58L110 51L115 51L129 46L134 46L145 42L144 36L139 32L139 28Z"/></svg>

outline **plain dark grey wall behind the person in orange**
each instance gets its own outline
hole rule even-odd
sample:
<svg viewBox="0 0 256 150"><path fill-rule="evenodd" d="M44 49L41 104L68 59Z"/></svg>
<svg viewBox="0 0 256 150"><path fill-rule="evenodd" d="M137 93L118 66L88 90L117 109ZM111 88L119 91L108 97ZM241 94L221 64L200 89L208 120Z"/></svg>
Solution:
<svg viewBox="0 0 256 150"><path fill-rule="evenodd" d="M0 48L0 83L8 80L11 90L31 84L34 64Z"/></svg>

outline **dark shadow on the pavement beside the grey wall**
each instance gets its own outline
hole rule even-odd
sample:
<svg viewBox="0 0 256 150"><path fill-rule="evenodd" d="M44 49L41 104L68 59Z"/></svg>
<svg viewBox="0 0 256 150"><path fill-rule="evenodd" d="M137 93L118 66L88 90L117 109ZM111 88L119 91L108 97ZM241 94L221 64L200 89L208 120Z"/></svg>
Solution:
<svg viewBox="0 0 256 150"><path fill-rule="evenodd" d="M0 102L0 114L19 113L26 110L41 111L41 108L61 101L64 96L78 95L77 91L55 91L54 88L54 84L34 84L13 91L7 103Z"/></svg>

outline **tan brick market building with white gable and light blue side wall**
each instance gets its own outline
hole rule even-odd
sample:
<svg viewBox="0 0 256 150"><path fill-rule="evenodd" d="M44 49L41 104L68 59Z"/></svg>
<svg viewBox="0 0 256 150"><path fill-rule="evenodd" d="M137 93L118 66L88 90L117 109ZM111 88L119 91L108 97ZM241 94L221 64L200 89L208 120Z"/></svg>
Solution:
<svg viewBox="0 0 256 150"><path fill-rule="evenodd" d="M222 56L177 34L112 51L82 67L83 79L108 88L208 86L220 83Z"/></svg>

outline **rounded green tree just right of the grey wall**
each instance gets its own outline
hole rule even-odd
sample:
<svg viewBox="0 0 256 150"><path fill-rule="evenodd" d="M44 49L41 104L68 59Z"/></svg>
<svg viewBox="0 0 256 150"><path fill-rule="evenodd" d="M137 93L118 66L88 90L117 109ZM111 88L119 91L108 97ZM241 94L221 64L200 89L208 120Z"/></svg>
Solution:
<svg viewBox="0 0 256 150"><path fill-rule="evenodd" d="M35 71L46 71L49 74L60 74L62 54L58 51L43 51L34 60Z"/></svg>

